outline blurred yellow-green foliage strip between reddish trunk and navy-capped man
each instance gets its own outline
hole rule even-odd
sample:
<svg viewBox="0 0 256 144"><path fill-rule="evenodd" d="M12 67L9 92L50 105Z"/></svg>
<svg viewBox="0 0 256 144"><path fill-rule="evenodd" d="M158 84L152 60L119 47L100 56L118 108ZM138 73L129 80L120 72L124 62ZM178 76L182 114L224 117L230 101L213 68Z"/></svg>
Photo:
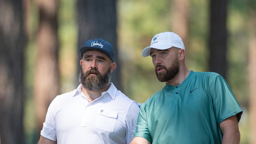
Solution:
<svg viewBox="0 0 256 144"><path fill-rule="evenodd" d="M77 87L77 21L76 2L60 0L59 7L59 69L61 93Z"/></svg>

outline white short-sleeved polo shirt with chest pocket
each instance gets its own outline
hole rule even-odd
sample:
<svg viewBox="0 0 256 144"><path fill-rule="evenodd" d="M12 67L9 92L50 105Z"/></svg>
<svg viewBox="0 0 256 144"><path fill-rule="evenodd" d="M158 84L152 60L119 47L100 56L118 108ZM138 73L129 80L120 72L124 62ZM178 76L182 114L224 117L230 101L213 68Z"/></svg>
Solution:
<svg viewBox="0 0 256 144"><path fill-rule="evenodd" d="M41 135L58 144L129 144L137 126L137 103L113 83L90 103L81 88L54 98Z"/></svg>

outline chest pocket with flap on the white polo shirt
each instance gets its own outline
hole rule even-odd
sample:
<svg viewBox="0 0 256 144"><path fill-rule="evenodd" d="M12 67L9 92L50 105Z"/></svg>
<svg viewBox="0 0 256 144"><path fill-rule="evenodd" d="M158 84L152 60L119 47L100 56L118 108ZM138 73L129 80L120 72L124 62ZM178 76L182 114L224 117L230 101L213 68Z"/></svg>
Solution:
<svg viewBox="0 0 256 144"><path fill-rule="evenodd" d="M114 132L117 115L118 112L116 111L100 109L97 114L95 127L103 131Z"/></svg>

